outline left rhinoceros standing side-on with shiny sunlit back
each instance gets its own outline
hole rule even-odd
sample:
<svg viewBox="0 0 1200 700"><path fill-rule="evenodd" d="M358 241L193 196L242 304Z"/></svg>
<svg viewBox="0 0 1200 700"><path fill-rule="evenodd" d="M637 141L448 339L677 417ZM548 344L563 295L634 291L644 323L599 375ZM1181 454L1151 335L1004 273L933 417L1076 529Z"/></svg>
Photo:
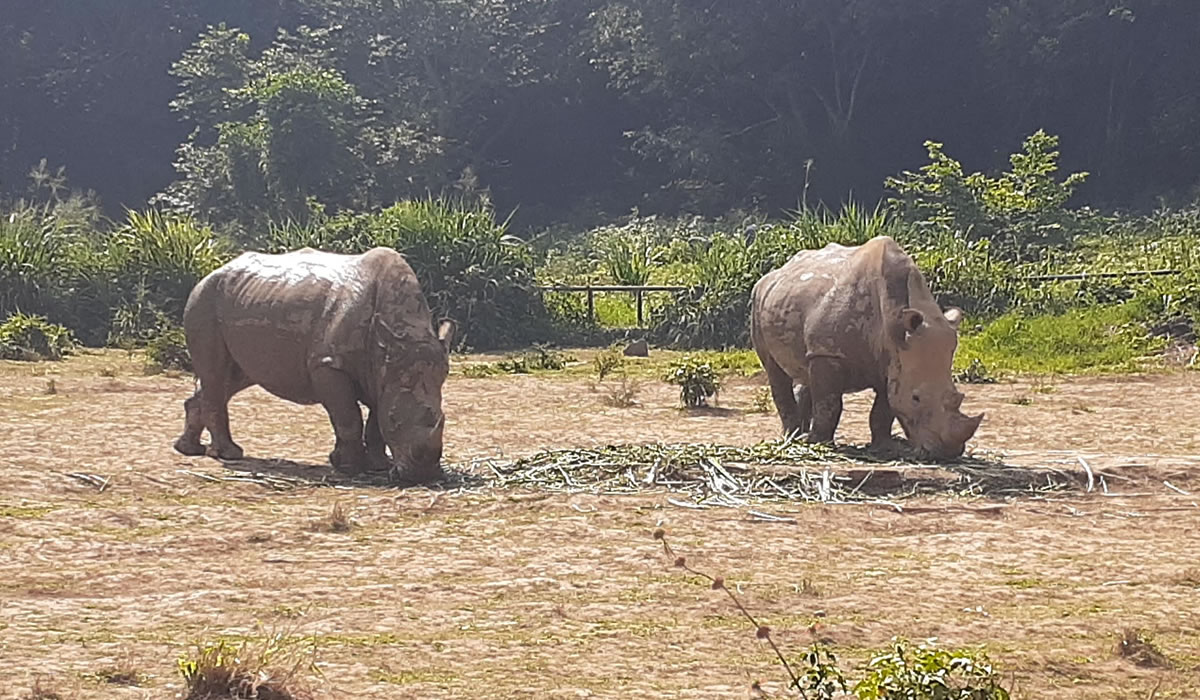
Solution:
<svg viewBox="0 0 1200 700"><path fill-rule="evenodd" d="M335 468L390 467L408 481L442 475L442 384L454 324L434 331L416 275L398 252L242 253L196 285L184 329L199 388L184 403L180 453L240 459L229 399L259 384L325 407L337 436L329 455ZM360 402L370 409L366 435Z"/></svg>

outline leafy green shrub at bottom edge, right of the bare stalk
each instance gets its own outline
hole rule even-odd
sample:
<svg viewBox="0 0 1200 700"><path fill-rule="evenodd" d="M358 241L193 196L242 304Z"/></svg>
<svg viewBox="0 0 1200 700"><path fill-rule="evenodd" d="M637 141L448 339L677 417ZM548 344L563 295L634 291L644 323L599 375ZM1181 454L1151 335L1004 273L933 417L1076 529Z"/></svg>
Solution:
<svg viewBox="0 0 1200 700"><path fill-rule="evenodd" d="M983 653L911 646L894 640L872 658L854 686L859 700L1008 700L1009 692Z"/></svg>

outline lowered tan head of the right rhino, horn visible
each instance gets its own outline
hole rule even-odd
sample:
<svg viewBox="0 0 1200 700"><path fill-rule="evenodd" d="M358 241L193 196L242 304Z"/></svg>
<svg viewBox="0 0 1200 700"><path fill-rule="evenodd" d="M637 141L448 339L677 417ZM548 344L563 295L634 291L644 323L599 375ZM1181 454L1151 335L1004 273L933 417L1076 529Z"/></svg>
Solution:
<svg viewBox="0 0 1200 700"><path fill-rule="evenodd" d="M905 307L894 321L888 403L918 450L953 459L966 449L983 414L968 417L960 411L964 396L950 376L962 311L937 311L928 315Z"/></svg>

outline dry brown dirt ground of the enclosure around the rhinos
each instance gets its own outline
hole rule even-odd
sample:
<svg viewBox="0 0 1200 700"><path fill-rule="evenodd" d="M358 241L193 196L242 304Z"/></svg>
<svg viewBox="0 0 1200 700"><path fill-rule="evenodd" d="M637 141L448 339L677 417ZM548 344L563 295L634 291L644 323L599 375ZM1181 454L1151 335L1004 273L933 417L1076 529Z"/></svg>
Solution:
<svg viewBox="0 0 1200 700"><path fill-rule="evenodd" d="M50 393L53 390L53 393ZM318 645L324 698L744 698L782 672L737 611L650 534L721 574L793 656L816 634L854 669L893 635L985 645L1018 698L1200 698L1200 372L970 387L977 448L1019 463L1124 466L1111 495L925 498L905 513L773 502L691 510L637 496L272 491L170 449L191 390L122 353L0 364L0 698L173 698L196 642L287 629ZM647 381L606 407L584 378L455 376L446 456L774 437L745 409L685 414ZM866 438L868 397L841 438ZM258 389L247 455L328 473L322 411ZM65 475L97 474L103 490ZM335 503L348 532L314 527ZM997 508L998 505L998 508ZM260 626L260 627L259 627ZM1118 657L1150 634L1169 668ZM114 670L139 687L106 682Z"/></svg>

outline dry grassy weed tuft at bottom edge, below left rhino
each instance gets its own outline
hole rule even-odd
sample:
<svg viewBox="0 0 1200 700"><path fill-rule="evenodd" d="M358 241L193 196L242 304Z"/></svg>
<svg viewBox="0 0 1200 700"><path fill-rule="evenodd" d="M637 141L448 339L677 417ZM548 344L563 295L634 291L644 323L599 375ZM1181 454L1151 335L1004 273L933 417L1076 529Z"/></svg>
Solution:
<svg viewBox="0 0 1200 700"><path fill-rule="evenodd" d="M274 633L258 640L197 645L178 660L185 700L306 700L305 674L319 674L311 638Z"/></svg>

